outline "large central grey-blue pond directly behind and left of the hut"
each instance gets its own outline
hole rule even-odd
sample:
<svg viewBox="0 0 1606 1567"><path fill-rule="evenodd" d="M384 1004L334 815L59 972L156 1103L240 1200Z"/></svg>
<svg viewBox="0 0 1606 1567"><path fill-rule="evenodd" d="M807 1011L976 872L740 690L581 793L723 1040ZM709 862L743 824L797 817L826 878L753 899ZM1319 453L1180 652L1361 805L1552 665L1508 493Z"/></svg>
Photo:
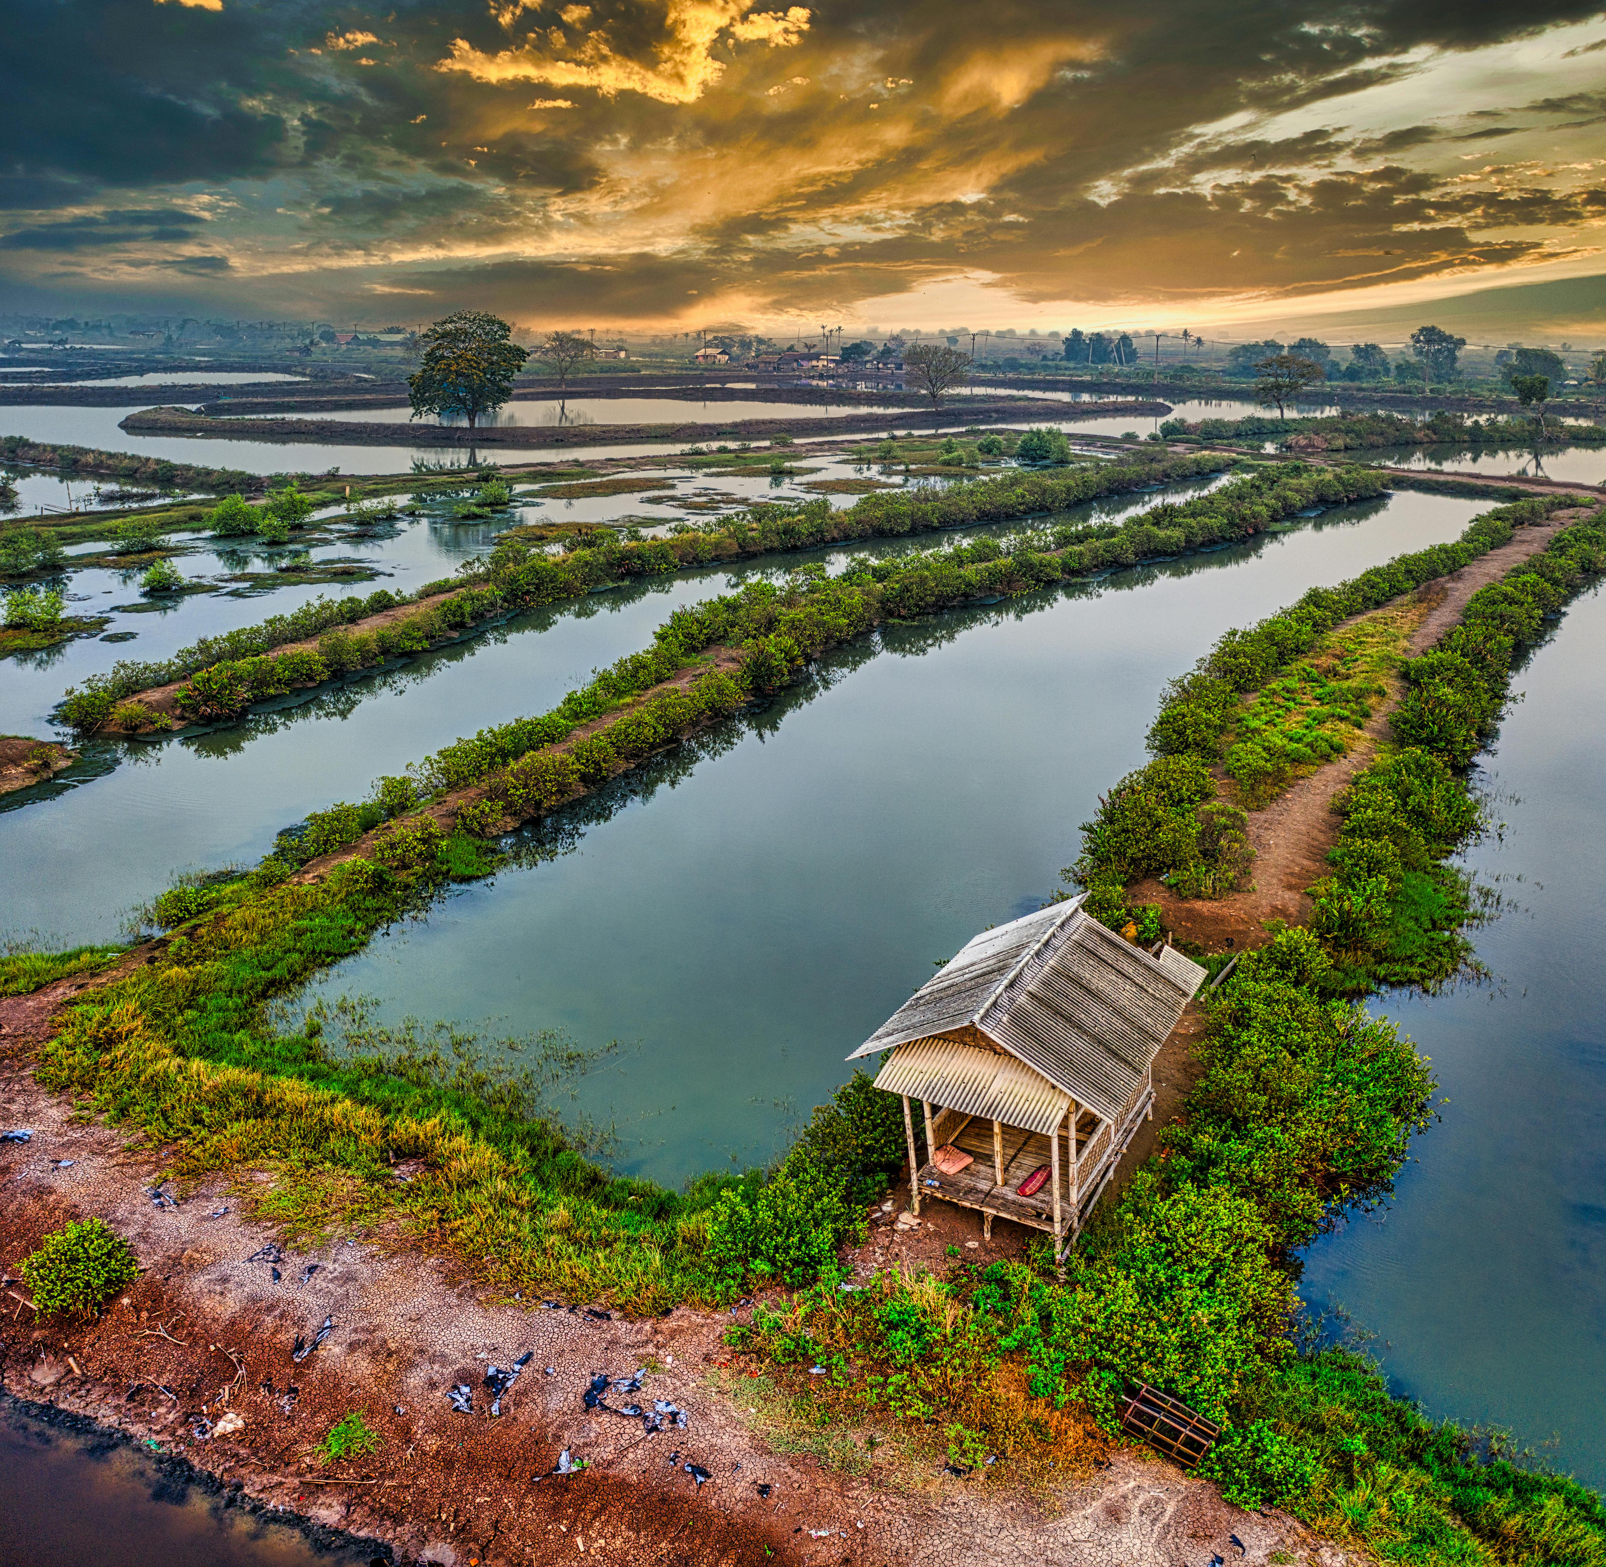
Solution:
<svg viewBox="0 0 1606 1567"><path fill-rule="evenodd" d="M1478 509L1402 493L890 627L520 836L525 868L450 894L313 993L618 1040L578 1106L617 1122L620 1168L676 1183L768 1159L933 963L1062 886L1099 791L1142 763L1168 678L1227 627L1453 538Z"/></svg>

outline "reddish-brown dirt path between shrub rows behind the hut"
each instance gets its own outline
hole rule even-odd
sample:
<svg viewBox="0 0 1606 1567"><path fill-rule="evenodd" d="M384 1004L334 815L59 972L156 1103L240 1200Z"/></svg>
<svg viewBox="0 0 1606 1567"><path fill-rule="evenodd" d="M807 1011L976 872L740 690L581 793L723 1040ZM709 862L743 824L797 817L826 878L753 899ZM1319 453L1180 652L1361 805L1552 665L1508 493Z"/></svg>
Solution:
<svg viewBox="0 0 1606 1567"><path fill-rule="evenodd" d="M1513 566L1537 554L1569 522L1588 516L1585 509L1558 511L1543 524L1519 529L1508 545L1490 550L1458 572L1426 583L1408 601L1421 606L1405 654L1426 653L1466 611L1466 601ZM1302 924L1310 914L1312 882L1327 871L1327 855L1338 841L1339 818L1333 800L1376 755L1388 733L1389 715L1400 696L1399 683L1378 706L1360 738L1347 754L1306 778L1298 778L1264 810L1249 813L1249 845L1254 849L1254 884L1221 900L1179 898L1160 881L1137 882L1134 903L1158 903L1166 924L1182 940L1198 942L1206 951L1259 947L1267 940L1267 921Z"/></svg>

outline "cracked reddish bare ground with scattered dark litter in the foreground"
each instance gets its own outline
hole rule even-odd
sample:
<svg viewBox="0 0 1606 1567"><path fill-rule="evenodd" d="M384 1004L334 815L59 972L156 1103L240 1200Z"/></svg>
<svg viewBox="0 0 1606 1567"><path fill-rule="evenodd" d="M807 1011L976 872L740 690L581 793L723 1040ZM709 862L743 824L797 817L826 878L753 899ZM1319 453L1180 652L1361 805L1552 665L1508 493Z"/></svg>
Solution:
<svg viewBox="0 0 1606 1567"><path fill-rule="evenodd" d="M145 1273L96 1323L39 1323L21 1302L0 1313L0 1387L153 1440L292 1519L445 1567L1346 1561L1291 1519L1229 1508L1213 1487L1142 1450L1108 1451L1094 1434L1078 1446L1079 1474L1028 1493L997 1469L960 1480L896 1442L869 1451L869 1430L822 1434L777 1418L774 1390L737 1381L729 1364L728 1313L623 1321L585 1302L487 1300L382 1231L247 1262L276 1239L243 1212L271 1172L246 1167L177 1193L177 1207L153 1204L159 1156L75 1125L72 1106L34 1082L22 1030L10 1038L0 1125L34 1138L0 1144L0 1270L14 1274L40 1234L95 1213L130 1239ZM880 1225L862 1265L915 1266L927 1250L941 1257L946 1238ZM326 1316L328 1340L296 1364L296 1337ZM533 1358L493 1421L487 1366L525 1350ZM641 1392L607 1401L673 1401L684 1430L647 1435L639 1419L585 1408L597 1371L636 1368L647 1371ZM446 1401L456 1384L474 1390L469 1414ZM318 1442L352 1409L384 1445L321 1464ZM225 1416L238 1421L207 1432ZM548 1477L565 1448L589 1467ZM835 1463L816 1456L825 1450ZM686 1471L692 1463L705 1483Z"/></svg>

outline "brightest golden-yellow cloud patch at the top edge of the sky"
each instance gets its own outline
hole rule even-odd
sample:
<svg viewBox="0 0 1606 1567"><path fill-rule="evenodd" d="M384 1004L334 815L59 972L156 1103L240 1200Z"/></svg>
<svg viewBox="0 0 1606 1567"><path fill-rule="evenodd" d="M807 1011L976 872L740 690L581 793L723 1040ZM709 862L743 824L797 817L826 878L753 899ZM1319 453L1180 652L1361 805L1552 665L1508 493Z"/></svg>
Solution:
<svg viewBox="0 0 1606 1567"><path fill-rule="evenodd" d="M565 37L556 27L548 34L532 32L522 48L487 55L466 39L456 39L451 53L437 71L461 71L477 82L546 82L552 87L591 87L604 96L641 93L658 103L695 103L724 74L723 61L713 58L719 42L768 43L789 48L808 32L809 13L800 5L785 11L753 11L755 0L668 0L660 31L662 42L650 63L631 59L613 47L607 23L591 32L570 58L556 58L567 50ZM525 0L495 6L493 14L511 26ZM589 8L572 5L562 11L570 26L589 18Z"/></svg>

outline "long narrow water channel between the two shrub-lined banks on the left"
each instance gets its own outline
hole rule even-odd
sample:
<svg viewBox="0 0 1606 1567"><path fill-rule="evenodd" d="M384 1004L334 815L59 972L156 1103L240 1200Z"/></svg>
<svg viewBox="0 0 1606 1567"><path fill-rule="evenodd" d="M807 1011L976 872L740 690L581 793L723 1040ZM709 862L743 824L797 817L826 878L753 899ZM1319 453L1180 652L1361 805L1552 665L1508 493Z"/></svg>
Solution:
<svg viewBox="0 0 1606 1567"><path fill-rule="evenodd" d="M1066 516L1124 516L1200 487L1094 501ZM1452 511L1460 518L1468 508L1457 503ZM869 540L856 550L898 554L999 530ZM279 828L332 800L366 797L381 773L400 771L482 725L554 707L591 670L649 646L654 630L683 604L811 559L835 571L848 553L800 551L737 569L647 579L520 616L387 672L286 699L243 723L159 741L93 741L53 783L0 799L0 865L8 873L0 935L37 931L56 945L114 939L124 913L173 874L254 863ZM1375 558L1392 553L1378 542ZM1224 563L1225 556L1211 559ZM263 609L257 604L249 619ZM98 651L106 661L100 667L120 651L79 646ZM29 670L29 680L14 688L14 704L13 688L0 694L0 728L47 733L45 715L63 685L56 665Z"/></svg>

